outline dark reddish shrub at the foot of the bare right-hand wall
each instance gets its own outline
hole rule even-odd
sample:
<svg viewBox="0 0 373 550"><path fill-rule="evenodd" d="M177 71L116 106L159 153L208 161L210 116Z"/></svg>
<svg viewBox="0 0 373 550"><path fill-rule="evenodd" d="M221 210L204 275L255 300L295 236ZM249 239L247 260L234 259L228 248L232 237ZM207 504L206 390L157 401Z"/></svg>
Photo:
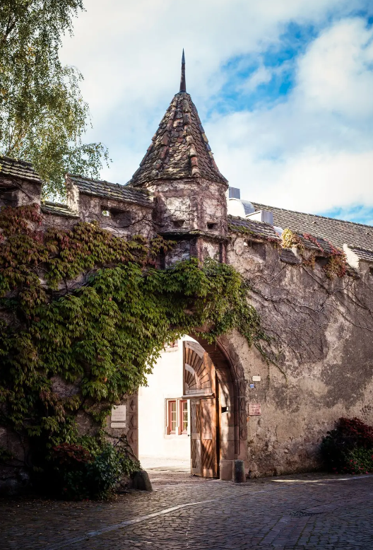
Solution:
<svg viewBox="0 0 373 550"><path fill-rule="evenodd" d="M321 443L326 467L341 474L373 472L373 426L341 418Z"/></svg>

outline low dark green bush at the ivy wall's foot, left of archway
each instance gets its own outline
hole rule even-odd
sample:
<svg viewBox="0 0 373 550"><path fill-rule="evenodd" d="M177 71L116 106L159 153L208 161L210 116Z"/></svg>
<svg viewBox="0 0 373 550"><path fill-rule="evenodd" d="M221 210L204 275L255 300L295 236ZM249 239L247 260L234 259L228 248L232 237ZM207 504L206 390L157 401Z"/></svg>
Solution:
<svg viewBox="0 0 373 550"><path fill-rule="evenodd" d="M52 486L66 500L105 499L122 476L131 476L140 464L119 446L102 445L97 455L81 445L63 443L52 452Z"/></svg>

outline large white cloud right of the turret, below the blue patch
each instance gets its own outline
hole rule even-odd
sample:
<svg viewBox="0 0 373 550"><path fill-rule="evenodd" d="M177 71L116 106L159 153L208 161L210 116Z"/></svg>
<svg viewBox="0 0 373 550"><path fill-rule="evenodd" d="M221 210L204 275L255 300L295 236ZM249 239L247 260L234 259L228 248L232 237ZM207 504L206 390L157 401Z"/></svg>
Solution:
<svg viewBox="0 0 373 550"><path fill-rule="evenodd" d="M244 197L313 212L373 206L372 39L362 18L335 23L299 60L284 103L208 125L220 170Z"/></svg>

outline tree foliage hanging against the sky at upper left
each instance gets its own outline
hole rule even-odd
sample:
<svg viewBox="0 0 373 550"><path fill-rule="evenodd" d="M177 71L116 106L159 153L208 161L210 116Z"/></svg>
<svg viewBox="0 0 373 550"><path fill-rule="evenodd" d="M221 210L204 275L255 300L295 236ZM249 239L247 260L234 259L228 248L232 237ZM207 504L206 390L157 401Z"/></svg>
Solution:
<svg viewBox="0 0 373 550"><path fill-rule="evenodd" d="M59 47L71 33L82 0L2 0L0 3L0 150L30 160L45 194L64 194L64 173L98 177L107 149L83 144L89 124L82 76L61 66Z"/></svg>

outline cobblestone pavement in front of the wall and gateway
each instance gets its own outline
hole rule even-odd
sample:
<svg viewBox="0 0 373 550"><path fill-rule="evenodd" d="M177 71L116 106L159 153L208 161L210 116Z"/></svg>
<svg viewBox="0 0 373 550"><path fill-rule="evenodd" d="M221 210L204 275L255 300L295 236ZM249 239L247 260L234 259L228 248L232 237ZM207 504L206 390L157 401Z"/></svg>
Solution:
<svg viewBox="0 0 373 550"><path fill-rule="evenodd" d="M110 502L0 501L0 549L373 549L373 476L150 478Z"/></svg>

